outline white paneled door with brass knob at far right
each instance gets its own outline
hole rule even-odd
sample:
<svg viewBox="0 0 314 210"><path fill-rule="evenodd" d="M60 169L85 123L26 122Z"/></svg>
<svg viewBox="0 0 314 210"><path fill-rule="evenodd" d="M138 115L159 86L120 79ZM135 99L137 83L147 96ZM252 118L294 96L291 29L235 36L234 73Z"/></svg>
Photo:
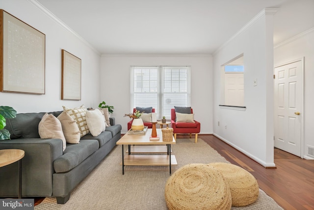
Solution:
<svg viewBox="0 0 314 210"><path fill-rule="evenodd" d="M302 60L275 68L274 146L301 157Z"/></svg>

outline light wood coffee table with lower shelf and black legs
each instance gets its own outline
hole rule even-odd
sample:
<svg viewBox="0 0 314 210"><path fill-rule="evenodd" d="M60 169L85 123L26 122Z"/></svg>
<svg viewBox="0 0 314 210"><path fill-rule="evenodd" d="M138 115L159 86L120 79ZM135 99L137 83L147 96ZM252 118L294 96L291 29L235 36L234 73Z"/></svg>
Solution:
<svg viewBox="0 0 314 210"><path fill-rule="evenodd" d="M124 174L125 165L169 165L169 173L171 175L171 165L178 164L175 155L171 155L171 144L176 144L176 141L174 137L172 137L172 141L162 141L161 129L156 130L157 135L159 135L159 140L150 140L149 137L152 134L152 129L148 129L145 135L126 133L119 141L117 141L117 145L122 145L122 174ZM128 145L129 149L126 156L124 156L124 145ZM136 150L133 150L133 153L131 145L141 145L141 148L144 149L137 152L135 152ZM162 149L160 150L160 146L162 145L166 148L166 155L159 155L160 153L163 153ZM147 147L147 150L145 147ZM146 154L138 155L136 153ZM149 155L147 153L149 153Z"/></svg>

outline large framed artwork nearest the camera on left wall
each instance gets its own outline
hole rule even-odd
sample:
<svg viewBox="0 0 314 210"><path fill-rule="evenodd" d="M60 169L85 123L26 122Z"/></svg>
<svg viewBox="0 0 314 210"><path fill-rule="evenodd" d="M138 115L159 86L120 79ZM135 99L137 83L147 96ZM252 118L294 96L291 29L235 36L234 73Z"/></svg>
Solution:
<svg viewBox="0 0 314 210"><path fill-rule="evenodd" d="M0 91L45 94L42 32L0 9Z"/></svg>

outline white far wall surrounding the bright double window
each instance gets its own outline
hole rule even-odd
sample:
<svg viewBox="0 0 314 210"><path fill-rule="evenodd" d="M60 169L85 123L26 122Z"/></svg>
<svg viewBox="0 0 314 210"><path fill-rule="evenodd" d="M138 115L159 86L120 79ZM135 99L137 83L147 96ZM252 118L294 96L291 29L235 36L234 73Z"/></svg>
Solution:
<svg viewBox="0 0 314 210"><path fill-rule="evenodd" d="M131 112L131 66L191 66L191 106L201 133L212 133L212 58L210 55L103 55L101 58L101 100L114 106L112 116L127 132Z"/></svg>

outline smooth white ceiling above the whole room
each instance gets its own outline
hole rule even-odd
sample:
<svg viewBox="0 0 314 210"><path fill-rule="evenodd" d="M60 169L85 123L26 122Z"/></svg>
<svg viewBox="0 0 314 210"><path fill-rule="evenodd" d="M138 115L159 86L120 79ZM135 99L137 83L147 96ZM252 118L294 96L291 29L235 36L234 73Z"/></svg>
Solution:
<svg viewBox="0 0 314 210"><path fill-rule="evenodd" d="M314 0L37 0L101 54L211 54L263 8L274 45L314 27Z"/></svg>

